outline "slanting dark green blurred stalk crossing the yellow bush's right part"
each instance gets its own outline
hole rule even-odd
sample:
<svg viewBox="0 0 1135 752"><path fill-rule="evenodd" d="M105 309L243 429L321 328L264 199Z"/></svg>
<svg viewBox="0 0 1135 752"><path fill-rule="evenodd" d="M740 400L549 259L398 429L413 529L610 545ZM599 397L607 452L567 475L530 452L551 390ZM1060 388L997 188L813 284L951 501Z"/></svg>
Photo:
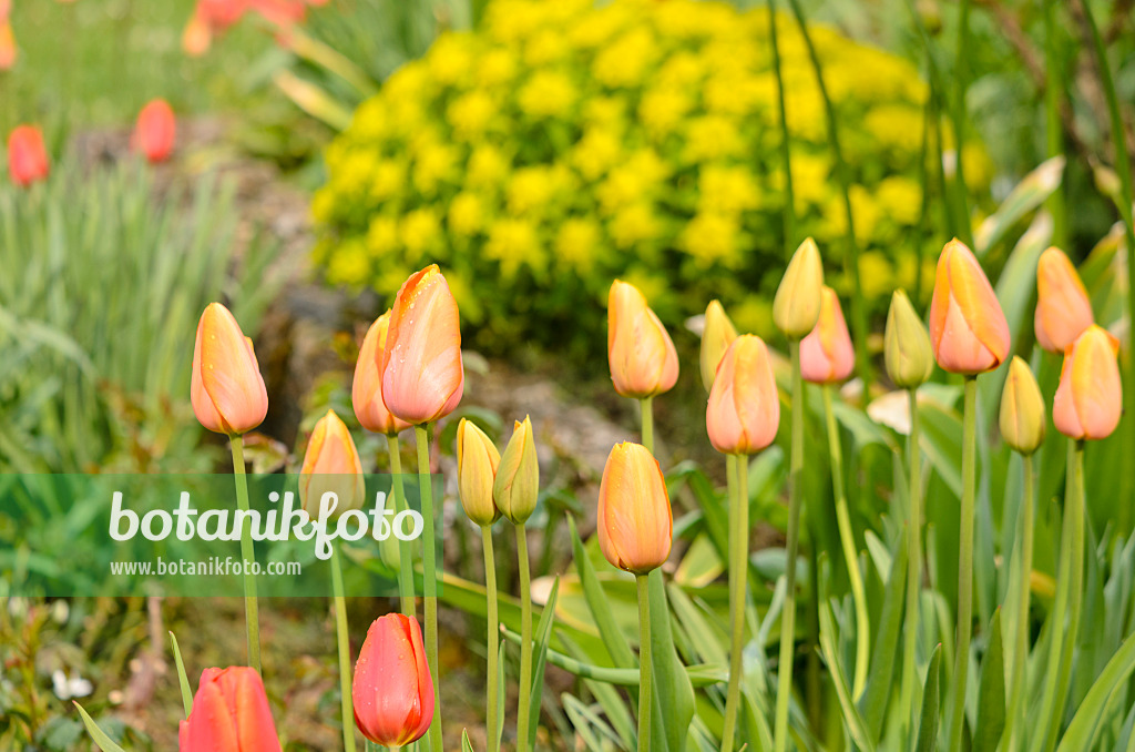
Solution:
<svg viewBox="0 0 1135 752"><path fill-rule="evenodd" d="M843 158L843 148L840 145L839 120L835 115L835 107L832 98L827 93L827 84L824 82L824 68L819 64L819 55L816 45L812 41L808 32L808 24L804 17L804 9L800 0L789 0L792 14L796 16L797 25L800 27L800 35L804 37L804 45L808 50L808 59L812 60L812 68L816 74L816 84L819 87L819 97L824 100L824 115L827 118L827 141L832 147L832 159L835 161L835 174L843 193L843 214L847 217L846 239L848 254L844 259L844 269L851 277L851 334L855 342L856 374L864 384L872 383L871 359L867 357L867 309L864 306L863 284L859 279L859 241L855 236L855 216L851 211L851 173L848 169L847 160Z"/></svg>

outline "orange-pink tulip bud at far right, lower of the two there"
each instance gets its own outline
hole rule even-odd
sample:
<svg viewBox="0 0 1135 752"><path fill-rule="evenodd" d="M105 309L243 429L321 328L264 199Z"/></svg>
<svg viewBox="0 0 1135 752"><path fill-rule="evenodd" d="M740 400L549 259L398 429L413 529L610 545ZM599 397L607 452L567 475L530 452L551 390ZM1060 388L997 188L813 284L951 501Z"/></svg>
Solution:
<svg viewBox="0 0 1135 752"><path fill-rule="evenodd" d="M1107 438L1119 425L1123 384L1119 341L1093 324L1065 350L1052 423L1071 438Z"/></svg>

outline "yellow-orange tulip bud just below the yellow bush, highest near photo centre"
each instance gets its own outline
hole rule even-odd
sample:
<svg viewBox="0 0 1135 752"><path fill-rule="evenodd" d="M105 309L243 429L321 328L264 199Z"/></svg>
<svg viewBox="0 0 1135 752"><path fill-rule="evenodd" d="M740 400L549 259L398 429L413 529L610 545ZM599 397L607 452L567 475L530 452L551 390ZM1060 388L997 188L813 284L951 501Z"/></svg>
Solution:
<svg viewBox="0 0 1135 752"><path fill-rule="evenodd" d="M607 296L607 361L615 391L642 399L678 382L678 351L634 285L615 279Z"/></svg>

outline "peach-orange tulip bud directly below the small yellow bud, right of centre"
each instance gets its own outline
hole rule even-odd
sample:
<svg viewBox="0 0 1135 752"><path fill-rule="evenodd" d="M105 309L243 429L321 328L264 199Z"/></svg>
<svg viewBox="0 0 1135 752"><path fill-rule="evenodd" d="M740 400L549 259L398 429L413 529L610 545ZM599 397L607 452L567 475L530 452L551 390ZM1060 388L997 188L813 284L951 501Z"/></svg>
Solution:
<svg viewBox="0 0 1135 752"><path fill-rule="evenodd" d="M773 443L780 427L780 398L768 349L755 334L729 345L709 391L706 429L724 454L755 454Z"/></svg>

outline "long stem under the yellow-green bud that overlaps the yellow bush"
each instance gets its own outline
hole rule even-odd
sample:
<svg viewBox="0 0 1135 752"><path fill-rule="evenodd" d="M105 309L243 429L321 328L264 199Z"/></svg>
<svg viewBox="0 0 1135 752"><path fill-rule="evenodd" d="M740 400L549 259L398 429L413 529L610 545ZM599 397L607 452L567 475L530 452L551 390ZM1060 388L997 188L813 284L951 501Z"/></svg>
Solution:
<svg viewBox="0 0 1135 752"><path fill-rule="evenodd" d="M796 559L800 545L800 505L804 501L804 377L800 374L800 341L789 342L792 354L792 453L789 471L788 542L785 543L784 608L781 611L780 662L776 668L776 718L774 746L788 749L788 708L792 696L792 658L796 653Z"/></svg>

